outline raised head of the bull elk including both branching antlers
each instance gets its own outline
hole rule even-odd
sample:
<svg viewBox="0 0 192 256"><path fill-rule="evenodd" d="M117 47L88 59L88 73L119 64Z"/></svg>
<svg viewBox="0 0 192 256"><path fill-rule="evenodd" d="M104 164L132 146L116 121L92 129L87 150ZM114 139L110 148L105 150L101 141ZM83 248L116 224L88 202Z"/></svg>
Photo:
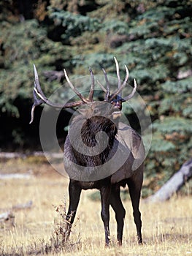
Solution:
<svg viewBox="0 0 192 256"><path fill-rule="evenodd" d="M125 65L126 78L123 81L123 83L121 83L118 61L115 57L114 57L114 59L115 59L115 64L116 64L117 76L118 76L118 89L114 93L110 94L110 82L107 78L107 72L104 69L102 69L103 72L104 72L104 78L105 78L105 81L106 81L107 89L105 89L105 87L99 81L97 81L99 83L99 85L101 86L101 89L105 93L104 101L101 102L100 104L98 102L95 102L94 99L93 99L95 81L94 81L93 71L92 71L91 68L89 69L90 74L91 74L91 89L89 91L88 98L85 98L80 93L80 91L78 91L74 87L72 82L69 80L69 77L66 73L66 70L64 69L64 75L65 75L65 78L67 80L67 83L69 83L69 86L74 91L74 93L77 94L77 96L80 98L80 100L78 100L76 102L67 102L66 104L56 104L54 102L51 102L49 99L47 99L47 97L45 97L45 94L43 93L43 91L41 89L41 86L39 84L37 69L34 65L34 77L35 77L34 91L33 91L34 104L31 108L30 124L34 120L34 109L38 105L42 105L43 103L45 103L46 105L49 105L50 107L60 108L60 109L86 106L87 108L89 108L88 111L80 109L79 112L82 115L83 115L83 113L85 113L87 117L88 116L99 116L101 114L101 112L102 112L102 116L103 116L103 114L104 114L103 112L105 110L105 111L107 111L108 116L112 117L113 119L117 118L120 115L120 110L122 109L122 103L126 102L128 99L131 99L134 96L135 91L137 89L137 83L136 83L136 80L134 80L134 89L132 90L131 94L129 94L127 97L122 97L121 96L121 91L126 86L126 83L127 83L127 80L128 80L128 68ZM109 107L109 103L110 103L111 108ZM106 108L106 106L107 106L107 108Z"/></svg>

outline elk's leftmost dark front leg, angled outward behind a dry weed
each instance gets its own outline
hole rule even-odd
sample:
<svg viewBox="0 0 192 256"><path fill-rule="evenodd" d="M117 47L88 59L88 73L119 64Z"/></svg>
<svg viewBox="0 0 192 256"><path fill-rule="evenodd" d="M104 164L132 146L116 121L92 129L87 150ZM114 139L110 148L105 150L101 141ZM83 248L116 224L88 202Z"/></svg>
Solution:
<svg viewBox="0 0 192 256"><path fill-rule="evenodd" d="M77 181L69 181L69 209L66 215L66 236L64 241L69 239L71 233L72 224L74 222L74 217L77 212L77 206L80 201L81 188L77 184Z"/></svg>

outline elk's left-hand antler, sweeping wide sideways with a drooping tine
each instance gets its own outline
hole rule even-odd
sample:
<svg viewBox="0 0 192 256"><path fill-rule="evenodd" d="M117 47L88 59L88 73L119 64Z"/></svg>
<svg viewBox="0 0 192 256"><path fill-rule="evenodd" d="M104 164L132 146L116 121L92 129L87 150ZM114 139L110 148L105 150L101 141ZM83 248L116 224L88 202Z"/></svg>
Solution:
<svg viewBox="0 0 192 256"><path fill-rule="evenodd" d="M82 94L80 94L80 92L74 87L74 85L72 84L72 82L69 80L69 77L66 73L66 70L64 69L64 74L66 77L67 82L69 83L69 86L71 87L71 89L74 91L75 94L77 94L77 96L80 98L79 101L76 102L68 102L66 104L58 104L58 103L54 103L51 102L49 99L47 99L47 97L45 97L45 94L42 92L40 83L39 83L39 77L37 74L37 69L34 65L34 104L32 105L31 108L31 121L29 124L31 124L34 121L34 110L37 106L42 105L43 103L49 105L50 107L53 108L73 108L73 107L77 107L83 104L87 104L88 102L93 102L93 92L94 92L94 79L93 79L93 72L90 69L91 72L91 90L89 92L89 96L88 99L86 99L85 97L82 96ZM38 98L38 97L39 98Z"/></svg>

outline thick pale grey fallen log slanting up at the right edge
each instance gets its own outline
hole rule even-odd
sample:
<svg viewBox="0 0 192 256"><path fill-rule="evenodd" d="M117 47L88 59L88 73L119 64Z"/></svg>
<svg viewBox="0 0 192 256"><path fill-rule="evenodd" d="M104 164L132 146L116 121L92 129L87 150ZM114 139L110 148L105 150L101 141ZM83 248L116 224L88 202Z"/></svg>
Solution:
<svg viewBox="0 0 192 256"><path fill-rule="evenodd" d="M185 182L190 178L192 178L192 159L185 162L180 170L178 170L177 173L174 173L174 176L172 176L161 189L155 192L154 195L147 197L145 203L164 202L165 200L168 200L175 192L183 187Z"/></svg>

